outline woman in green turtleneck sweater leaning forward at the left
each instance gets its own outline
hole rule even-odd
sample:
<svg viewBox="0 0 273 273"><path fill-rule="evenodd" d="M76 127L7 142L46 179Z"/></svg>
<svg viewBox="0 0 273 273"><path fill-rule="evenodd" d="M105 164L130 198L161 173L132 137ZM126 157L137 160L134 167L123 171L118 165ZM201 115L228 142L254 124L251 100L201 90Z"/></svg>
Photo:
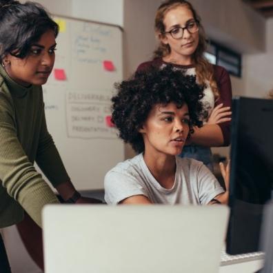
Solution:
<svg viewBox="0 0 273 273"><path fill-rule="evenodd" d="M0 228L21 221L23 210L41 226L43 205L59 202L34 161L65 201L92 203L72 185L45 123L41 85L58 32L39 4L0 0ZM0 236L0 261L4 252Z"/></svg>

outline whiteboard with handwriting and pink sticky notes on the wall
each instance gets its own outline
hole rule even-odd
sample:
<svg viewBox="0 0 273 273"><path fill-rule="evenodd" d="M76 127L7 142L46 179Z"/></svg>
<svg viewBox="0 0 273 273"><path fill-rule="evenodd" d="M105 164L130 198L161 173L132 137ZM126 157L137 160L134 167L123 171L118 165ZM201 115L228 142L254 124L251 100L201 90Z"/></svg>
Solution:
<svg viewBox="0 0 273 273"><path fill-rule="evenodd" d="M114 83L123 78L122 32L117 26L65 17L59 23L54 69L43 85L48 131L77 190L99 190L124 160L110 127Z"/></svg>

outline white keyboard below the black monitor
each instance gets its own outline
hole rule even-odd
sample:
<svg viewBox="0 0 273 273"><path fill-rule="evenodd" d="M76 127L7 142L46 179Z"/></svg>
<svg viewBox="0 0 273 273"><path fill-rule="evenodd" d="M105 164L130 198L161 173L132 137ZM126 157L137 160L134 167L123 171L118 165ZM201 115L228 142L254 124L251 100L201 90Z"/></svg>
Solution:
<svg viewBox="0 0 273 273"><path fill-rule="evenodd" d="M238 255L230 255L225 251L221 251L221 265L231 265L232 263L243 263L246 261L254 261L264 259L264 252L252 252Z"/></svg>

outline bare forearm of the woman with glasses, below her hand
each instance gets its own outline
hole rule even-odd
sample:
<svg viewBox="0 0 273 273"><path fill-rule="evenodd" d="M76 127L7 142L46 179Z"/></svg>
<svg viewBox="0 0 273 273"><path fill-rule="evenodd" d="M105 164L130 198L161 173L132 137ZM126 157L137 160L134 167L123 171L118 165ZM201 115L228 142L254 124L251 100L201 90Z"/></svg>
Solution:
<svg viewBox="0 0 273 273"><path fill-rule="evenodd" d="M189 144L205 147L217 147L224 143L223 133L219 125L206 124L203 127L194 127L194 133L190 136Z"/></svg>

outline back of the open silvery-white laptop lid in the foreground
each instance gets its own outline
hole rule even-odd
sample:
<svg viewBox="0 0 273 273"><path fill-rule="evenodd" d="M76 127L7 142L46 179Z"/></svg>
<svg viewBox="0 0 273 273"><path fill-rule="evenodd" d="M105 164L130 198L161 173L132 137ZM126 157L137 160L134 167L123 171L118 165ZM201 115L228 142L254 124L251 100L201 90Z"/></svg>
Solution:
<svg viewBox="0 0 273 273"><path fill-rule="evenodd" d="M45 273L218 273L224 205L47 205Z"/></svg>

